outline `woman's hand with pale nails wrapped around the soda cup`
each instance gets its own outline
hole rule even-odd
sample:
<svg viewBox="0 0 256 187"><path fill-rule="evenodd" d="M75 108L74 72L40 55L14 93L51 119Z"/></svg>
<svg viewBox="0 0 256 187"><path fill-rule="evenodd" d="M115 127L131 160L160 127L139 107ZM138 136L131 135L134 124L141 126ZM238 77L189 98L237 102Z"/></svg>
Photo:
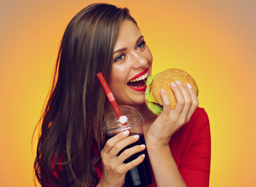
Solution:
<svg viewBox="0 0 256 187"><path fill-rule="evenodd" d="M135 160L124 164L124 161L145 149L145 146L132 146L132 148L124 150L119 156L117 154L126 146L135 143L139 136L128 136L129 131L118 133L116 136L106 141L100 155L103 162L103 175L98 186L118 186L124 185L124 178L127 171L142 163L144 155L140 155Z"/></svg>

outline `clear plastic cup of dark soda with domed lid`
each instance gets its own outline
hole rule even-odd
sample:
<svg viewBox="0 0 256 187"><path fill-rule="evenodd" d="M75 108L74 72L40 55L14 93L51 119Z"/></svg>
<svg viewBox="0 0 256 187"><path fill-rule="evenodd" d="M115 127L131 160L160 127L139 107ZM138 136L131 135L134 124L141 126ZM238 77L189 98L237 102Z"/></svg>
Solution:
<svg viewBox="0 0 256 187"><path fill-rule="evenodd" d="M103 132L105 133L106 140L124 130L129 130L131 135L139 135L139 140L129 146L124 147L124 149L121 150L118 155L121 154L124 150L131 148L132 146L145 144L142 129L142 123L144 122L144 119L142 118L142 115L140 115L139 111L136 111L135 108L127 105L121 105L119 108L122 114L120 118L117 117L113 108L112 110L110 109L110 111L106 112L106 115L104 116ZM152 183L146 149L142 150L142 152L133 154L131 157L128 157L124 163L133 161L142 153L144 153L146 156L144 161L142 161L142 163L135 168L132 168L130 171L128 171L125 176L125 186L127 187L143 187Z"/></svg>

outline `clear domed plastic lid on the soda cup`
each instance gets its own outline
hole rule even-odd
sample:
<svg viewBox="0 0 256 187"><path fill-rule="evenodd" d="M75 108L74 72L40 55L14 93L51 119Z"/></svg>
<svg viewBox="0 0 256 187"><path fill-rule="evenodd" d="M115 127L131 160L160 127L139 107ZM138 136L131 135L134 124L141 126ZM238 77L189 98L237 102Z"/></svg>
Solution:
<svg viewBox="0 0 256 187"><path fill-rule="evenodd" d="M129 126L144 122L142 115L135 108L128 105L121 105L119 108L122 114L120 118L117 117L113 109L106 112L103 119L103 131L124 127L129 129ZM124 123L126 123L125 126Z"/></svg>

